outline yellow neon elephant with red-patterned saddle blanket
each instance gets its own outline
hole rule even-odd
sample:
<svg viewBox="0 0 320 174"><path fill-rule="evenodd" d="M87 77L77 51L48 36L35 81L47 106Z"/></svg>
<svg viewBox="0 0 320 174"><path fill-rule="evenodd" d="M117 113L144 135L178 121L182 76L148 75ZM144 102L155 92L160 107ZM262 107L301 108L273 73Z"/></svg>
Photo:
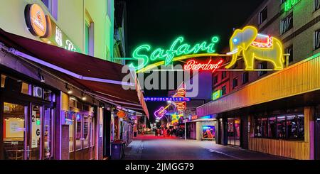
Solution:
<svg viewBox="0 0 320 174"><path fill-rule="evenodd" d="M272 62L274 70L282 70L284 66L284 55L282 43L274 37L257 33L257 28L246 26L242 30L235 30L230 38L230 53L232 60L225 68L229 69L238 60L242 53L245 61L245 70L254 70L254 60Z"/></svg>

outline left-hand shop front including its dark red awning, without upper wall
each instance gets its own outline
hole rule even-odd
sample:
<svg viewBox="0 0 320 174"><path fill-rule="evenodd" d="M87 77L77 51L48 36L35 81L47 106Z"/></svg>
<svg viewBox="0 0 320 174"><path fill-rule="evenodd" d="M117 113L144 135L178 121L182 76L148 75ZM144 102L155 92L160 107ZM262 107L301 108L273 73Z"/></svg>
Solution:
<svg viewBox="0 0 320 174"><path fill-rule="evenodd" d="M0 47L1 159L102 159L110 155L104 139L113 138L115 125L111 114L104 114L107 108L149 116L139 100L142 92L121 87L127 75L122 65L1 29ZM130 141L128 123L122 136Z"/></svg>

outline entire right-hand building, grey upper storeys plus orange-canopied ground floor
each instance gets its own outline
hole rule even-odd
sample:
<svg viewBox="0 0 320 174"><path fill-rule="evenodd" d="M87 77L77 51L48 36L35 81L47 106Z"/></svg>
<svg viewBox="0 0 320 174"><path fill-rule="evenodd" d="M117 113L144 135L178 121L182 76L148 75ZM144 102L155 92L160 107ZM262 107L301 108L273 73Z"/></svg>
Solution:
<svg viewBox="0 0 320 174"><path fill-rule="evenodd" d="M264 1L244 26L282 40L284 70L217 72L222 96L197 108L217 114L216 143L295 159L319 159L319 1ZM241 28L241 27L239 27ZM255 61L256 69L273 65ZM243 60L233 68L243 69Z"/></svg>

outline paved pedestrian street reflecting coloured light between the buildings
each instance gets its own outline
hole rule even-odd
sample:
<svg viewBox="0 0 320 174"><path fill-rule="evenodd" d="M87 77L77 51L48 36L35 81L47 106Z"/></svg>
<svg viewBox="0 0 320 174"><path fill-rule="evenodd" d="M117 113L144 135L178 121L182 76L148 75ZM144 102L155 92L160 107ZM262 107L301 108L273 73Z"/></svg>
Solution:
<svg viewBox="0 0 320 174"><path fill-rule="evenodd" d="M277 156L241 148L216 145L213 141L175 137L138 136L129 144L125 160L281 160Z"/></svg>

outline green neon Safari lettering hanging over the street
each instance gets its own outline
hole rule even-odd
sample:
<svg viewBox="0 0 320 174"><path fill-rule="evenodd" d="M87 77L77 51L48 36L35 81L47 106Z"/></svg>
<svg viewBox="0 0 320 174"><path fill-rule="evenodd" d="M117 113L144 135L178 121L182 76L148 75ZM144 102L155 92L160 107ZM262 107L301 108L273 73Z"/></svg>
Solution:
<svg viewBox="0 0 320 174"><path fill-rule="evenodd" d="M164 65L169 65L171 62L174 62L174 58L179 56L197 54L199 52L215 53L215 43L219 42L218 36L214 36L211 38L210 43L204 41L203 43L196 43L196 45L191 47L191 45L183 43L183 40L183 37L178 37L171 44L169 50L156 48L151 54L150 45L140 45L132 54L133 59L138 61L137 65L131 63L129 66L134 67L135 70L141 70L146 65L149 65L149 62L164 61Z"/></svg>

